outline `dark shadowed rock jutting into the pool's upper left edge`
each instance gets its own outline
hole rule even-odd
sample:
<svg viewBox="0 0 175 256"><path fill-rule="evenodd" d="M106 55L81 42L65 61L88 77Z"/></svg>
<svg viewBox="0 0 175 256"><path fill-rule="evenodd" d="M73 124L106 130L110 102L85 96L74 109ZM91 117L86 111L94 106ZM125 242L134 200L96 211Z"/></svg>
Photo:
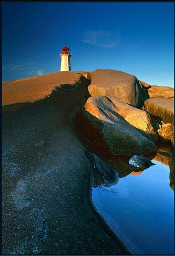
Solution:
<svg viewBox="0 0 175 256"><path fill-rule="evenodd" d="M94 187L101 184L110 187L118 183L118 173L113 167L89 151L86 151L86 155L93 165Z"/></svg>

